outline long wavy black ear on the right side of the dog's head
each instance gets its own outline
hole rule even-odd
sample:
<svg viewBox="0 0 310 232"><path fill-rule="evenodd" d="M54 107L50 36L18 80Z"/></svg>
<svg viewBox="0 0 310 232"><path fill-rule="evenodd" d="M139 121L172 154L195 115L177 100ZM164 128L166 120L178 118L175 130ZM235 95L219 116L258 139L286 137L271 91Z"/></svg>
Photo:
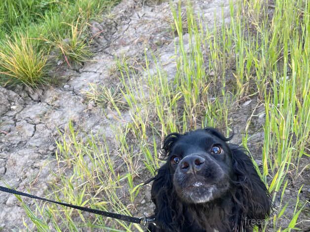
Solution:
<svg viewBox="0 0 310 232"><path fill-rule="evenodd" d="M233 156L234 181L237 189L234 194L237 205L248 219L265 219L271 213L270 194L258 175L252 160L245 149L230 145Z"/></svg>

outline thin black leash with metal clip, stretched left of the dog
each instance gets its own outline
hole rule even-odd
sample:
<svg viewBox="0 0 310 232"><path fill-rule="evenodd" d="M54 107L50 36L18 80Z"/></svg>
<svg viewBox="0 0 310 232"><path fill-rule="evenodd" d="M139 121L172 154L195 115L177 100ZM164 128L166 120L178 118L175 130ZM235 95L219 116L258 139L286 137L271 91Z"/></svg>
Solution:
<svg viewBox="0 0 310 232"><path fill-rule="evenodd" d="M91 209L91 208L87 208L87 207L81 207L81 206L77 206L77 205L72 205L72 204L67 204L67 203L62 203L62 202L58 202L58 201L54 201L54 200L49 200L49 199L45 199L39 196L35 196L35 195L31 195L28 193L22 193L16 190L12 190L12 189L8 189L5 187L0 186L0 191L5 192L5 193L13 193L13 194L17 194L17 195L21 195L21 196L27 196L27 197L31 197L34 199L39 199L39 200L44 200L44 201L48 201L48 202L52 202L52 203L56 203L59 205L64 205L67 207L71 207L71 208L75 208L75 209L79 209L82 211L87 211L90 213L94 213L94 214L99 214L102 216L106 216L109 218L115 218L121 221L126 221L126 222L132 222L132 223L137 223L140 224L141 226L145 226L147 223L154 223L155 222L155 218L153 217L141 217L141 218L135 218L135 217L131 217L131 216L127 216L127 215L122 215L122 214L117 214L117 213L110 213L110 212L106 212L106 211L101 211L98 209Z"/></svg>

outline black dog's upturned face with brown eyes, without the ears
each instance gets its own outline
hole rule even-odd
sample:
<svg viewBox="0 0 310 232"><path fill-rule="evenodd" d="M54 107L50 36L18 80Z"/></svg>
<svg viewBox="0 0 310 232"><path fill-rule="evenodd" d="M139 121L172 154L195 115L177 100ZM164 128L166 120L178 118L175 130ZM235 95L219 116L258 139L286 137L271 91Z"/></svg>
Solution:
<svg viewBox="0 0 310 232"><path fill-rule="evenodd" d="M170 148L168 162L173 186L184 202L208 202L230 188L232 153L225 141L206 130L178 138Z"/></svg>

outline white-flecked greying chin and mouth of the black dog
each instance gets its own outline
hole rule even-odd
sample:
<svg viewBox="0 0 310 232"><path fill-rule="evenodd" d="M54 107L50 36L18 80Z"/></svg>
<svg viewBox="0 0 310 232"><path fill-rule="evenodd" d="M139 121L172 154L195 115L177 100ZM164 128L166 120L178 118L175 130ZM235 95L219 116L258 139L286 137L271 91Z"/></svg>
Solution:
<svg viewBox="0 0 310 232"><path fill-rule="evenodd" d="M216 185L206 186L201 182L195 182L193 185L183 188L182 190L179 189L177 193L183 201L199 204L214 200L217 191L218 189Z"/></svg>

